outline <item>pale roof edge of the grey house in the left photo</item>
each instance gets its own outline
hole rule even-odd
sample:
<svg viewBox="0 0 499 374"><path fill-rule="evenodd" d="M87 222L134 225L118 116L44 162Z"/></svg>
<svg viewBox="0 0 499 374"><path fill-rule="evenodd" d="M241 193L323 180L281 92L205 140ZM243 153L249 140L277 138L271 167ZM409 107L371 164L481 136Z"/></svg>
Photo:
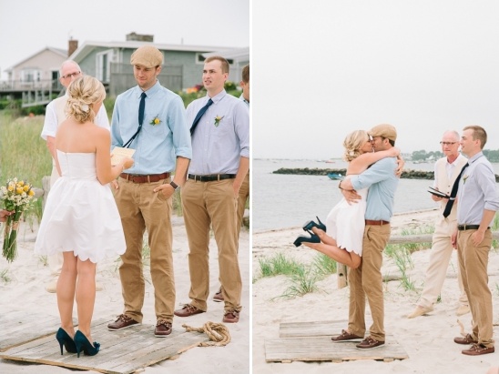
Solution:
<svg viewBox="0 0 499 374"><path fill-rule="evenodd" d="M162 51L185 51L185 52L209 52L209 51L226 51L233 48L230 47L220 47L220 46L209 46L209 45L167 45L158 44L150 42L140 42L135 40L130 40L126 42L85 42L84 44L78 46L73 55L69 56L69 59L75 60L76 62L82 61L92 50L97 47L106 48L131 48L137 49L142 45L154 45L159 50Z"/></svg>

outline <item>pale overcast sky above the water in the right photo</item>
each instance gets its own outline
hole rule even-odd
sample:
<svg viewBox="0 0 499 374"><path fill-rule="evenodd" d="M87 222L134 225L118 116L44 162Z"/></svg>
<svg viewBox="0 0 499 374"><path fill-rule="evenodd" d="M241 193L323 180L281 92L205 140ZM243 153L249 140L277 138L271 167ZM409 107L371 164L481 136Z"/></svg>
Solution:
<svg viewBox="0 0 499 374"><path fill-rule="evenodd" d="M402 153L467 125L499 149L498 20L494 0L253 0L253 157L341 157L382 123Z"/></svg>

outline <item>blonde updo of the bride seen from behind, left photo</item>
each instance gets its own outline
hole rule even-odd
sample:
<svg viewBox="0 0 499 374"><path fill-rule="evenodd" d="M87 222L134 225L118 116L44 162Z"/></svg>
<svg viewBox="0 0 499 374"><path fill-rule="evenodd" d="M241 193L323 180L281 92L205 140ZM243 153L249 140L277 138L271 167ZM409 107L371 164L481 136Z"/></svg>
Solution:
<svg viewBox="0 0 499 374"><path fill-rule="evenodd" d="M66 114L83 124L94 121L94 105L106 98L106 89L93 76L81 76L67 87L67 94Z"/></svg>

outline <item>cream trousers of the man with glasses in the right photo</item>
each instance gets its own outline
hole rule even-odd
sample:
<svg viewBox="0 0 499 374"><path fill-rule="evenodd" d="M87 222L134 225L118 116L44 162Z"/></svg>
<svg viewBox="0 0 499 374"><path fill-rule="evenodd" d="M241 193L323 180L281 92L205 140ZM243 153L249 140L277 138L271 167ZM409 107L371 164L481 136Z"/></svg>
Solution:
<svg viewBox="0 0 499 374"><path fill-rule="evenodd" d="M433 233L432 252L430 254L430 264L424 276L424 288L418 305L423 308L431 308L436 302L442 290L443 281L449 268L449 261L453 255L453 245L451 236L455 229L456 221L444 218L442 215L435 224ZM468 305L468 298L463 288L463 278L461 271L457 270L457 284L460 290L459 304Z"/></svg>

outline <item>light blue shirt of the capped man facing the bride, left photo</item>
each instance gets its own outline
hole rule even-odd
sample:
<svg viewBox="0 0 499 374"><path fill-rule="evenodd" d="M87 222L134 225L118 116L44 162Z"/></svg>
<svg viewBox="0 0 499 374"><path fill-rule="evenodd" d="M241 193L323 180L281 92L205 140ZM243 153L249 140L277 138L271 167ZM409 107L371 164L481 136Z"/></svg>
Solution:
<svg viewBox="0 0 499 374"><path fill-rule="evenodd" d="M138 128L138 105L142 90L135 86L117 96L111 120L111 147L123 147ZM171 172L176 157L192 158L190 134L182 99L159 82L146 91L144 123L130 148L135 164L129 174ZM155 118L158 125L151 125Z"/></svg>

